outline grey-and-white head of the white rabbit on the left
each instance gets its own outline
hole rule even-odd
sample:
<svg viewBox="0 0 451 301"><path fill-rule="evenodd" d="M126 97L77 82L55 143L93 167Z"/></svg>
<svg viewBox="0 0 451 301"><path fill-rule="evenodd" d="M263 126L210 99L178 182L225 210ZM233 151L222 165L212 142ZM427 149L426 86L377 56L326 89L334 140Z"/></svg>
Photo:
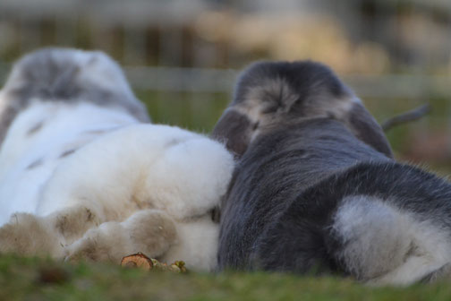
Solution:
<svg viewBox="0 0 451 301"><path fill-rule="evenodd" d="M100 107L119 107L140 122L149 122L146 108L132 93L106 90L92 82L83 82L81 65L74 56L78 50L45 48L21 58L2 90L6 101L0 112L0 144L4 141L14 118L33 101L88 101ZM102 52L90 52L87 64L107 63L111 73L120 73L120 67Z"/></svg>

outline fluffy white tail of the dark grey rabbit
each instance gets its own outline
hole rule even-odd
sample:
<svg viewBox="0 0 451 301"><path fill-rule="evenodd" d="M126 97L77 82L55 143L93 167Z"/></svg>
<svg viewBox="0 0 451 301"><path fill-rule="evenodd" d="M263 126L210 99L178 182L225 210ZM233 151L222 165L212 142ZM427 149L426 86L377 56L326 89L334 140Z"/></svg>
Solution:
<svg viewBox="0 0 451 301"><path fill-rule="evenodd" d="M451 262L443 230L377 197L347 197L334 230L345 240L346 266L372 285L411 284Z"/></svg>

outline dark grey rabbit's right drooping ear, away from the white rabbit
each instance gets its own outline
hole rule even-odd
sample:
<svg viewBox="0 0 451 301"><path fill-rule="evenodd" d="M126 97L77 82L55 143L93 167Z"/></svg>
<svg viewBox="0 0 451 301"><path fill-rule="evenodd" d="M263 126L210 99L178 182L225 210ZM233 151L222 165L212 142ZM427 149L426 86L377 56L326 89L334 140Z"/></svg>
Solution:
<svg viewBox="0 0 451 301"><path fill-rule="evenodd" d="M362 142L382 152L388 158L393 158L393 152L384 131L361 103L353 103L345 117L345 124Z"/></svg>

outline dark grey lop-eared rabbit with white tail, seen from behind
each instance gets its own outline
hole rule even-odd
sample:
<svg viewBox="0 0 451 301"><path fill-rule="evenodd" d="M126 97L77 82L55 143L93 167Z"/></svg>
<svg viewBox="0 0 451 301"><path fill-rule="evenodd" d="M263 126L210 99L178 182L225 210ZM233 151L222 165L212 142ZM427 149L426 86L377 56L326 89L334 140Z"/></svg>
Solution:
<svg viewBox="0 0 451 301"><path fill-rule="evenodd" d="M252 65L213 136L240 157L219 270L398 285L449 271L451 185L391 159L379 125L324 65Z"/></svg>

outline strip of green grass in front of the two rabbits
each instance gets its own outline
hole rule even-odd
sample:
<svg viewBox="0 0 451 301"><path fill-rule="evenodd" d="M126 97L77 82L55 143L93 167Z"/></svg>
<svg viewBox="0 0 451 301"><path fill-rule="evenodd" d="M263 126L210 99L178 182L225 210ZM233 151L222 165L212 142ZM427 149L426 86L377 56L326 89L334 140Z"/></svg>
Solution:
<svg viewBox="0 0 451 301"><path fill-rule="evenodd" d="M451 285L369 288L280 273L176 274L0 256L0 300L450 300Z"/></svg>

